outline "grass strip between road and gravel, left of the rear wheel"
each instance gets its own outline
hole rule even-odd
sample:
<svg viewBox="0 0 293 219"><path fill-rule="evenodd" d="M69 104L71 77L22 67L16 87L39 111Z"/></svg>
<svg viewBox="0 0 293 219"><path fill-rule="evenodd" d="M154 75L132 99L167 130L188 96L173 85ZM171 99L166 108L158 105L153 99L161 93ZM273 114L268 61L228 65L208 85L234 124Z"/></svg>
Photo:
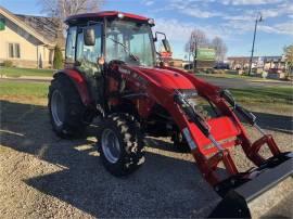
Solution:
<svg viewBox="0 0 293 219"><path fill-rule="evenodd" d="M36 96L46 98L48 94L49 83L24 83L24 82L0 82L0 96Z"/></svg>

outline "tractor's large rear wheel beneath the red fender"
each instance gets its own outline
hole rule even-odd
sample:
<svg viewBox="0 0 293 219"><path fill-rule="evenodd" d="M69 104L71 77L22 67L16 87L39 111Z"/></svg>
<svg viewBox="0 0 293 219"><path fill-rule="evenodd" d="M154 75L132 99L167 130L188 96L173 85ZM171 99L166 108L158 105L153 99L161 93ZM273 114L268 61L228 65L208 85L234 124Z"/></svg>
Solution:
<svg viewBox="0 0 293 219"><path fill-rule="evenodd" d="M81 134L89 124L84 120L87 108L72 81L62 75L54 78L48 98L54 132L61 138Z"/></svg>

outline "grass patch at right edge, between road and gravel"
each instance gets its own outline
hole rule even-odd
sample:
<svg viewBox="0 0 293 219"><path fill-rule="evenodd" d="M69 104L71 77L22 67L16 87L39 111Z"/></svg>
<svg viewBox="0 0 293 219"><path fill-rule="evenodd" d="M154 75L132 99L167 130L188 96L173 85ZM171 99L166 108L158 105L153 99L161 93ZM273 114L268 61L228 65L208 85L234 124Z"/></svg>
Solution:
<svg viewBox="0 0 293 219"><path fill-rule="evenodd" d="M249 104L273 104L292 105L293 104L293 87L262 87L262 88L243 88L230 89L235 100Z"/></svg>

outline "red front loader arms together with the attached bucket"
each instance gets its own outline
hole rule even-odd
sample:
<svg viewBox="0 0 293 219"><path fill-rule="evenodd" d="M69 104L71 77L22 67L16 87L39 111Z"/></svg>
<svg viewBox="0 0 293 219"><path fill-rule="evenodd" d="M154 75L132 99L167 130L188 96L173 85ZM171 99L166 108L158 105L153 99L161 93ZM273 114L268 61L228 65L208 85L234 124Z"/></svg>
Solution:
<svg viewBox="0 0 293 219"><path fill-rule="evenodd" d="M216 86L209 85L194 76L171 67L164 67L169 70L182 74L188 77L196 87L199 94L207 98L213 102L222 113L227 116L225 121L219 124L206 121L211 126L211 131L201 130L201 132L209 139L217 147L217 151L205 152L202 144L198 143L201 133L194 127L196 123L190 123L186 117L182 118L186 128L182 129L190 147L195 147L191 151L199 168L203 173L206 181L209 182L215 191L224 197L209 217L226 217L226 218L257 218L266 216L269 209L277 206L281 201L292 195L293 190L293 153L281 152L275 142L271 134L267 134L257 125L256 117L237 104L227 90L222 90ZM241 125L240 119L235 115L240 114L251 126L255 127L263 137L255 142L251 142L245 133L244 127ZM177 115L180 116L180 115ZM219 144L220 140L218 132L213 131L220 127L219 132L226 132L226 126L230 123L231 128L227 131L228 136L237 137L237 141L232 145ZM183 125L184 126L184 125ZM181 126L182 128L182 126ZM233 130L235 129L235 130ZM212 136L212 139L208 138ZM211 137L209 136L209 137ZM214 138L215 137L215 138ZM198 144L196 144L198 143ZM240 144L246 155L252 160L256 168L247 170L246 172L239 172L232 157L227 150L228 146ZM271 157L265 159L259 155L259 150L263 145L267 145L271 152ZM205 155L211 155L207 158ZM230 177L227 179L219 179L215 175L217 165L222 162L224 166ZM288 202L288 201L286 201ZM267 215L269 216L269 215Z"/></svg>

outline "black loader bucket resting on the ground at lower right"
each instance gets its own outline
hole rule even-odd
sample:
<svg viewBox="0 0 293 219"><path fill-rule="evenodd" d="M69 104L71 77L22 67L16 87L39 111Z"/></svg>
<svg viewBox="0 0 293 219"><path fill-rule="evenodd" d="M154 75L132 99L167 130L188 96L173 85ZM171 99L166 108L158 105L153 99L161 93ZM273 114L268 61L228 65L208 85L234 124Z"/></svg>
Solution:
<svg viewBox="0 0 293 219"><path fill-rule="evenodd" d="M289 185L290 183L292 185L290 179L293 175L292 155L292 153L282 153L278 157L267 159L262 167L242 175L244 178L241 179L239 176L238 180L240 181L234 183L234 185L238 184L234 188L231 185L231 179L237 179L237 177L221 182L219 194L224 198L208 217L256 218L266 215L268 209L260 206L262 202L268 198L268 202L273 206L276 194L280 192L280 189L285 188L285 192L292 190L292 186ZM250 179L250 176L255 172L257 175ZM270 193L271 190L275 192ZM273 196L269 197L269 195Z"/></svg>

